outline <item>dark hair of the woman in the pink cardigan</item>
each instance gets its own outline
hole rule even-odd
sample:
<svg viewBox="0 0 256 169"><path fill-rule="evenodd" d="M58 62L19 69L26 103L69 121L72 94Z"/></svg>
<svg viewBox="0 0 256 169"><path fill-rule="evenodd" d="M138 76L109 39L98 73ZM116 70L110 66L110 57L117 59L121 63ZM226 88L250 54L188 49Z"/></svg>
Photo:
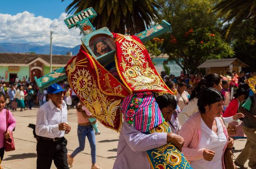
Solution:
<svg viewBox="0 0 256 169"><path fill-rule="evenodd" d="M215 88L204 88L198 94L197 106L201 113L205 113L205 106L209 105L211 109L212 104L221 100L225 101L225 97L219 90Z"/></svg>

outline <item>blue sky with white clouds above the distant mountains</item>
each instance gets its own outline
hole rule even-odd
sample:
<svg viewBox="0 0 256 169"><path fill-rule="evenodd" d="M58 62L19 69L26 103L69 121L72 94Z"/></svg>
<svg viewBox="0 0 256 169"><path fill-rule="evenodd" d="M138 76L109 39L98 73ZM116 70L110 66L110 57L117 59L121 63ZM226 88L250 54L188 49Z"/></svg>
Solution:
<svg viewBox="0 0 256 169"><path fill-rule="evenodd" d="M68 29L65 9L73 0L0 0L0 43L52 44L74 47L81 44L79 28Z"/></svg>

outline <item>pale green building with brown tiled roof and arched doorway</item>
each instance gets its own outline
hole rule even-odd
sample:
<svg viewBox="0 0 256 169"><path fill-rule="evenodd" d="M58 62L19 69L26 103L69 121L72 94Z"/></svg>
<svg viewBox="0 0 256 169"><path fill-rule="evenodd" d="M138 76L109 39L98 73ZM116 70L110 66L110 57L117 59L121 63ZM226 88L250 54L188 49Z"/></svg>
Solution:
<svg viewBox="0 0 256 169"><path fill-rule="evenodd" d="M52 55L53 70L67 65L71 55ZM50 55L30 53L0 53L0 76L8 86L17 77L22 80L38 78L50 73Z"/></svg>

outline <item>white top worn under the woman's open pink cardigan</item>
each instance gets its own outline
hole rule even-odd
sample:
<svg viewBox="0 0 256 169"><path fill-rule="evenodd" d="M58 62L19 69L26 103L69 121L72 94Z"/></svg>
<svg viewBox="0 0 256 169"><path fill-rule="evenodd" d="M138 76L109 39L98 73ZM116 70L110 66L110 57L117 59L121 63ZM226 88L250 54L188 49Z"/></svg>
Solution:
<svg viewBox="0 0 256 169"><path fill-rule="evenodd" d="M220 120L215 117L218 127L218 135L213 132L201 118L201 139L198 148L206 148L215 152L213 160L206 161L204 159L192 160L191 167L194 169L222 169L222 155L227 144L227 137L223 132L223 127Z"/></svg>

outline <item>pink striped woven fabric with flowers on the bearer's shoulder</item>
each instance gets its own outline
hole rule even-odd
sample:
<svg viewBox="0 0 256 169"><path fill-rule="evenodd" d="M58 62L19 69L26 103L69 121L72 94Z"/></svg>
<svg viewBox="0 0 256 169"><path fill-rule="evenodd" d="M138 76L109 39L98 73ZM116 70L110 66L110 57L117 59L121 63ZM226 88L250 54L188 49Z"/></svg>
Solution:
<svg viewBox="0 0 256 169"><path fill-rule="evenodd" d="M140 132L148 132L165 121L152 92L125 97L120 110L124 121Z"/></svg>

